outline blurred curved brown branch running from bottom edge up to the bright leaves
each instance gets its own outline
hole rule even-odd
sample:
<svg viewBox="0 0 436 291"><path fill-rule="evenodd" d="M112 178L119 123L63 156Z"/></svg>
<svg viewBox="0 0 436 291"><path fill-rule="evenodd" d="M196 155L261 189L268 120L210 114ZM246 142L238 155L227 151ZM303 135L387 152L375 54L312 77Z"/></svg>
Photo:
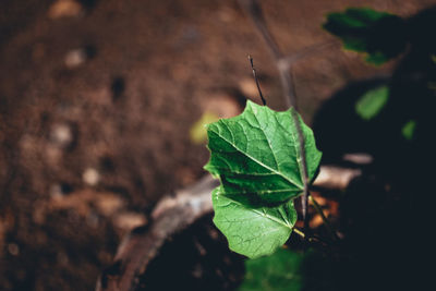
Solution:
<svg viewBox="0 0 436 291"><path fill-rule="evenodd" d="M211 213L210 192L218 185L218 180L207 175L193 186L178 191L175 196L162 198L152 214L152 225L133 230L123 239L114 263L102 271L96 290L134 290L140 276L146 271L166 240Z"/></svg>

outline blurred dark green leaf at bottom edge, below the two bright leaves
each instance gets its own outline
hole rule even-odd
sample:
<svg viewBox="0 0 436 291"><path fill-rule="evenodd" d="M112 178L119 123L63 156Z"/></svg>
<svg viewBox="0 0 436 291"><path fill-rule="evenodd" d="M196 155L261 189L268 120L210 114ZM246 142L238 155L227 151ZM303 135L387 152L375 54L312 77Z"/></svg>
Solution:
<svg viewBox="0 0 436 291"><path fill-rule="evenodd" d="M300 291L303 288L303 254L278 250L267 257L245 260L239 291Z"/></svg>

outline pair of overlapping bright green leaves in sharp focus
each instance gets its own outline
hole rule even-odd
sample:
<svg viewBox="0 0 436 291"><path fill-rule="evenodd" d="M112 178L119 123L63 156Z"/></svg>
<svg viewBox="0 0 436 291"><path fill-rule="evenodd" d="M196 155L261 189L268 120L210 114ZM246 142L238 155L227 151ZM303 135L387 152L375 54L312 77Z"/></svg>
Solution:
<svg viewBox="0 0 436 291"><path fill-rule="evenodd" d="M241 116L209 124L207 133L205 169L221 181L213 192L215 225L234 252L271 254L294 228L293 201L304 193L304 171L311 180L320 161L312 130L293 108L276 112L247 101Z"/></svg>

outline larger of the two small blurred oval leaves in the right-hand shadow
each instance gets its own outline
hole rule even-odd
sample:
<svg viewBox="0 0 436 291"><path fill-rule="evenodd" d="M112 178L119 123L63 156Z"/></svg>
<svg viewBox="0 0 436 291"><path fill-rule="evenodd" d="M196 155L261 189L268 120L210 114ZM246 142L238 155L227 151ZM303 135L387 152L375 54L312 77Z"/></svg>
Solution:
<svg viewBox="0 0 436 291"><path fill-rule="evenodd" d="M364 120L376 117L389 99L388 86L366 92L355 104L355 112Z"/></svg>

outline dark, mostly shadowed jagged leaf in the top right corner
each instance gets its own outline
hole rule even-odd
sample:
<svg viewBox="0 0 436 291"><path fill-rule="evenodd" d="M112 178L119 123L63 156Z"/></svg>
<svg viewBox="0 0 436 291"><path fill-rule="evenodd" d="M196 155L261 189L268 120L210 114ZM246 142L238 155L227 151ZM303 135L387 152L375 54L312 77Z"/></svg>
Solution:
<svg viewBox="0 0 436 291"><path fill-rule="evenodd" d="M329 13L323 27L339 37L346 49L365 52L365 60L376 65L397 57L407 45L404 21L370 8Z"/></svg>

